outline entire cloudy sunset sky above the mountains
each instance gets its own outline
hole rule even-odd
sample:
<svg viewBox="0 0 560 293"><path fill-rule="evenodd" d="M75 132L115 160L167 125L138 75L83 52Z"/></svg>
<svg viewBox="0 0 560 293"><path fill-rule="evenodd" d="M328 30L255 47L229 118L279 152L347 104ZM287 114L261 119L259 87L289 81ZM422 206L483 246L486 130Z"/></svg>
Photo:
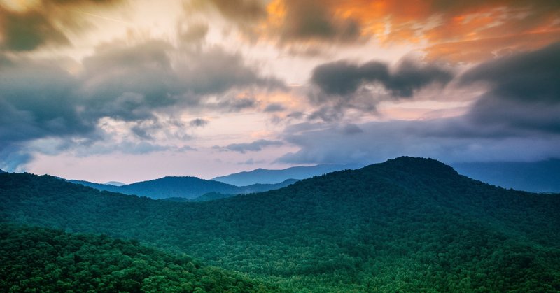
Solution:
<svg viewBox="0 0 560 293"><path fill-rule="evenodd" d="M0 169L560 157L560 1L0 0Z"/></svg>

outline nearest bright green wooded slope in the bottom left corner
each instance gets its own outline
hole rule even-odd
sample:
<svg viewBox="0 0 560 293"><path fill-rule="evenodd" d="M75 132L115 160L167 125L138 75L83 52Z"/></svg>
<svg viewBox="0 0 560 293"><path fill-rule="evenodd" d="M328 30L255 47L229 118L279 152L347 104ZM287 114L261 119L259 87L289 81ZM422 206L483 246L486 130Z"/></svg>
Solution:
<svg viewBox="0 0 560 293"><path fill-rule="evenodd" d="M186 255L108 236L0 224L0 292L269 292Z"/></svg>

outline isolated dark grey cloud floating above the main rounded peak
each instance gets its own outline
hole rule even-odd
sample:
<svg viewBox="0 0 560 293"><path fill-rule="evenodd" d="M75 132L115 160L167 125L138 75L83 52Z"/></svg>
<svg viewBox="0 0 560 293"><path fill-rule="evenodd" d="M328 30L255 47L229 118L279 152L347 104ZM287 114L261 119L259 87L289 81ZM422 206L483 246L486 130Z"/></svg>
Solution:
<svg viewBox="0 0 560 293"><path fill-rule="evenodd" d="M373 112L384 100L412 98L430 85L447 85L454 78L449 69L403 59L391 69L377 61L355 64L346 60L321 64L311 73L307 97L320 106L307 118L335 121L347 109Z"/></svg>

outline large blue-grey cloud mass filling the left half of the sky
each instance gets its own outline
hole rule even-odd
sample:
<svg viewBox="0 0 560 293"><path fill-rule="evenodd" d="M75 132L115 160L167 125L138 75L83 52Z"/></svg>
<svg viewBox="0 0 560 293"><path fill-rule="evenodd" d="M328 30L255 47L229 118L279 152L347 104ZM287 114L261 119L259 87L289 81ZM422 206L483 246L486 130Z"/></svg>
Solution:
<svg viewBox="0 0 560 293"><path fill-rule="evenodd" d="M25 152L25 144L38 138L107 139L98 128L105 117L126 122L137 139L152 140L161 133L189 138L181 131L185 125L173 118L177 111L244 110L256 101L238 97L238 90L283 87L281 81L262 78L246 66L241 55L212 48L183 51L184 59L172 60L175 52L176 48L162 41L132 46L106 43L83 59L78 74L63 69L65 60L36 62L1 55L0 166L14 164L6 162L14 158L10 154ZM218 102L209 102L209 97ZM168 133L168 129L181 133ZM154 149L137 146L134 149L139 152ZM29 155L20 156L25 157Z"/></svg>

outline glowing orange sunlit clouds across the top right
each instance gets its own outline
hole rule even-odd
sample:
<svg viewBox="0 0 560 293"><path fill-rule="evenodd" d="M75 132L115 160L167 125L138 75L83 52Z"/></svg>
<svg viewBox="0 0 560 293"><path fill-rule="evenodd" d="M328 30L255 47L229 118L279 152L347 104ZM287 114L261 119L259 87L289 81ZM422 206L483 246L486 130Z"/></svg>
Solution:
<svg viewBox="0 0 560 293"><path fill-rule="evenodd" d="M560 1L274 0L266 11L258 33L280 45L374 39L382 45L420 43L432 58L450 53L451 59L473 61L560 40ZM472 47L457 54L453 44L477 44L479 52Z"/></svg>

